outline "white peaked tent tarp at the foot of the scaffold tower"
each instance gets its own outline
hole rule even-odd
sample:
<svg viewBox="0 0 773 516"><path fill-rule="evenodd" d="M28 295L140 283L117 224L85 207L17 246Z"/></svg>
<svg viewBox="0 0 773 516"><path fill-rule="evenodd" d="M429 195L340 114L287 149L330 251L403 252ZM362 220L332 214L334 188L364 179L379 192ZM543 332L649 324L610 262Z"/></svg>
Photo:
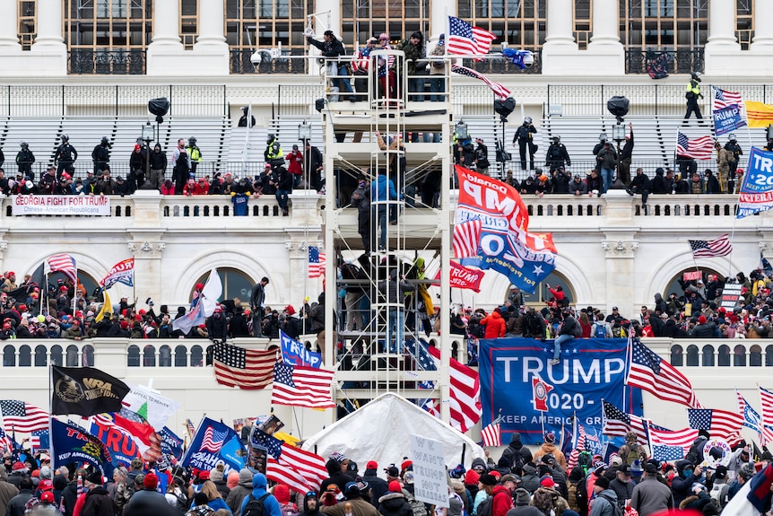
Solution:
<svg viewBox="0 0 773 516"><path fill-rule="evenodd" d="M343 453L357 462L360 474L369 460L376 460L381 474L390 463L399 467L404 457L410 457L411 434L442 442L449 468L462 462L463 448L465 468L469 468L475 458L486 459L483 449L464 433L392 392L382 394L312 435L303 442L302 448L315 451L324 459L335 451Z"/></svg>

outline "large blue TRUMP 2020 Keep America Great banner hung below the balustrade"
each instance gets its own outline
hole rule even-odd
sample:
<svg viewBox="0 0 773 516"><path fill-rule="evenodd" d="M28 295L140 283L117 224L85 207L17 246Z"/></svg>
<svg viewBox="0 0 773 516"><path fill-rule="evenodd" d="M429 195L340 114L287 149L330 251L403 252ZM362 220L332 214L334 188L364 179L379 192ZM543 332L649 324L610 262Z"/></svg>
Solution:
<svg viewBox="0 0 773 516"><path fill-rule="evenodd" d="M624 384L626 339L576 338L561 345L556 365L550 365L552 341L497 338L480 343L482 425L501 415L502 442L509 442L505 433L520 433L524 444L543 442L546 432L567 435L574 415L586 432L601 435L603 399L642 414L641 391Z"/></svg>

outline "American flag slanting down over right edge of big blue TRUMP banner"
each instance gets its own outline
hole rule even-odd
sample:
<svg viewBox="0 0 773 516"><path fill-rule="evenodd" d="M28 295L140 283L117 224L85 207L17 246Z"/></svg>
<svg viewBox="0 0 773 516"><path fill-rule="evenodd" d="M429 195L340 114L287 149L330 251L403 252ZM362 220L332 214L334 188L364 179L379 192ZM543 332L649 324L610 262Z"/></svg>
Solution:
<svg viewBox="0 0 773 516"><path fill-rule="evenodd" d="M664 361L638 338L630 340L626 384L644 389L658 399L692 408L702 408L692 384L673 365Z"/></svg>

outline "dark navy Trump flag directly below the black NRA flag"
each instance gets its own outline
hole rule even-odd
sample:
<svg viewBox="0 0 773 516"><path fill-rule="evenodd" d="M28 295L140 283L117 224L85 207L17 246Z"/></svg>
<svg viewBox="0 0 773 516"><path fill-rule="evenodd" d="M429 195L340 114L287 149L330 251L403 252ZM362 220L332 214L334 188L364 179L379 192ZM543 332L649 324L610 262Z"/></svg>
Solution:
<svg viewBox="0 0 773 516"><path fill-rule="evenodd" d="M51 456L54 469L74 462L86 462L100 470L103 477L112 477L117 466L107 447L91 433L74 424L51 419Z"/></svg>

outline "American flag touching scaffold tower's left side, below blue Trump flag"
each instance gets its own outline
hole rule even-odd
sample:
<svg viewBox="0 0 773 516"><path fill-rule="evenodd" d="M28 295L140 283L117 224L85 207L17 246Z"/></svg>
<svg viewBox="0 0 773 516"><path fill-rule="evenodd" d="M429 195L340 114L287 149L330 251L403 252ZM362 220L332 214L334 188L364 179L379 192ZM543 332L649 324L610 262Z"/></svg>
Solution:
<svg viewBox="0 0 773 516"><path fill-rule="evenodd" d="M330 397L333 371L277 362L271 403L292 407L334 408Z"/></svg>

